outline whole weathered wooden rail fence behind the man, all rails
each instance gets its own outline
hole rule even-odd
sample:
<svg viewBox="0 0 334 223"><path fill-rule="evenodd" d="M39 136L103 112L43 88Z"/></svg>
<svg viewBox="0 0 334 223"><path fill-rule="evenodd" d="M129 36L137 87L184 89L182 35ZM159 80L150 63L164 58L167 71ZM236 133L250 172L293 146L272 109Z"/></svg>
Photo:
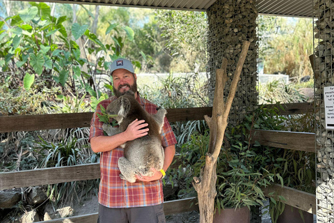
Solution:
<svg viewBox="0 0 334 223"><path fill-rule="evenodd" d="M268 107L270 106L272 105L268 105ZM280 114L305 114L314 109L314 106L310 103L283 104L282 106L284 110L280 109ZM167 112L168 121L170 122L202 120L205 114L212 115L212 107L167 109ZM0 116L0 132L89 127L92 115L93 113L88 112L78 114ZM253 140L259 141L264 146L315 152L314 133L257 130L254 132ZM6 172L0 174L0 190L97 178L100 178L99 164ZM280 187L279 185L267 187L264 192L267 197L273 197L274 199L276 199L277 195L281 195L286 199L283 202L290 206L308 211L309 213L316 213L315 194L301 192L289 187ZM198 206L191 206L191 203L194 203L193 198L168 201L164 203L164 210L166 215L197 210ZM70 220L70 222L96 222L97 213L67 217L66 219ZM58 219L46 222L60 223L64 222L64 220Z"/></svg>

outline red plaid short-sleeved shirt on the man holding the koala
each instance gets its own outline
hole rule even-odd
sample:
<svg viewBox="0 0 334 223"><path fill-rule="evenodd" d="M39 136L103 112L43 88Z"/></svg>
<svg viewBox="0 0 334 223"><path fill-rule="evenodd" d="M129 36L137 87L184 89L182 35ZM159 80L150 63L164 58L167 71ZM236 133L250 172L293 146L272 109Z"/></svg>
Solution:
<svg viewBox="0 0 334 223"><path fill-rule="evenodd" d="M97 114L101 114L100 105L106 108L110 102L116 100L113 96L103 100L97 105L96 111L90 121L90 136L97 137L104 135L102 130L103 123L99 121ZM149 114L157 113L157 106L152 102L140 98L136 100ZM172 146L176 144L175 135L170 128L165 117L164 127L161 133L162 146ZM109 208L133 208L141 206L154 206L164 201L161 180L152 182L129 183L120 178L118 169L118 158L123 156L123 149L118 147L108 152L102 152L100 157L101 182L99 189L99 203Z"/></svg>

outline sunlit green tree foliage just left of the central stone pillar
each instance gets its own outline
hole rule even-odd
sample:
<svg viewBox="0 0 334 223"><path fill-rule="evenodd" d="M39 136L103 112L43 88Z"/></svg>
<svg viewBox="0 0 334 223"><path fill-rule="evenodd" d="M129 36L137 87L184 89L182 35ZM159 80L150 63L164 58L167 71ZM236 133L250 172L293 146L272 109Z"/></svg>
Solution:
<svg viewBox="0 0 334 223"><path fill-rule="evenodd" d="M173 71L205 71L207 15L203 12L156 10L164 47L173 56Z"/></svg>

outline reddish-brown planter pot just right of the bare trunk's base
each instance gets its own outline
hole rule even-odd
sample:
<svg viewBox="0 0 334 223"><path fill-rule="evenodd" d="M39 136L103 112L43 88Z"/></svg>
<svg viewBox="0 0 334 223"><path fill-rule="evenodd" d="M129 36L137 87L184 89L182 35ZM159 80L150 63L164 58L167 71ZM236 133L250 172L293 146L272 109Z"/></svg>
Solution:
<svg viewBox="0 0 334 223"><path fill-rule="evenodd" d="M219 215L217 210L214 214L214 223L250 223L250 211L247 207L226 208L221 210Z"/></svg>

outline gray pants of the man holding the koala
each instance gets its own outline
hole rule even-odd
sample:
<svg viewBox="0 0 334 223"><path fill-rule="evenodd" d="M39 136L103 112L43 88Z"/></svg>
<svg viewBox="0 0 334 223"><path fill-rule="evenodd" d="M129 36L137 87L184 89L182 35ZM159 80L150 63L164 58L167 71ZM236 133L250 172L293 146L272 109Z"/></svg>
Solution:
<svg viewBox="0 0 334 223"><path fill-rule="evenodd" d="M99 204L100 223L165 223L164 205L138 208L107 208Z"/></svg>

